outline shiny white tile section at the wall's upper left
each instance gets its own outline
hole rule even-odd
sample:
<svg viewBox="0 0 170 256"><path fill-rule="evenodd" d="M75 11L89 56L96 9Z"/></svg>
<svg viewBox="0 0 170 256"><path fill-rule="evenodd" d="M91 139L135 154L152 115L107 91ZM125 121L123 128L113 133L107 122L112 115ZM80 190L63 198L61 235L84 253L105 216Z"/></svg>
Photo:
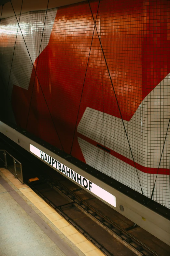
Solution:
<svg viewBox="0 0 170 256"><path fill-rule="evenodd" d="M10 97L12 93L13 85L20 86L28 90L30 77L33 70L32 63L35 62L36 58L47 46L51 29L55 20L57 13L56 9L51 9L47 11L33 11L17 15L20 27L18 28L18 23L16 17L10 17L1 20L0 26L0 70L4 74L4 80L6 86L8 85L9 74L10 80L8 85L8 95ZM46 21L45 21L46 16ZM45 22L45 26L44 26ZM44 27L44 32L43 32ZM21 28L21 29L20 29ZM18 34L17 34L18 29ZM22 33L21 33L22 32ZM43 38L42 38L43 32ZM16 40L17 35L17 40ZM23 37L22 37L23 35ZM24 39L23 39L24 38ZM41 44L42 38L42 44ZM16 40L16 45L15 45ZM25 43L24 43L25 40ZM15 45L15 51L14 51ZM41 49L40 49L41 45ZM26 47L27 46L27 47ZM28 49L28 50L27 50ZM14 52L14 57L13 57ZM29 54L30 56L29 56ZM13 57L13 62L12 62ZM31 57L31 59L30 59ZM36 67L35 67L36 69Z"/></svg>

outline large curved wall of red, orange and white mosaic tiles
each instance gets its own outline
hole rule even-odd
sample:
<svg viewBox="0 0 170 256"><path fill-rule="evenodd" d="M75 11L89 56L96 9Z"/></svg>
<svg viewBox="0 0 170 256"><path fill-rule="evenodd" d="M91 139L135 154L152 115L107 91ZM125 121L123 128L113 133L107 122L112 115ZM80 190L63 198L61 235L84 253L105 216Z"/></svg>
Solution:
<svg viewBox="0 0 170 256"><path fill-rule="evenodd" d="M148 197L156 179L153 199L170 208L170 2L85 1L45 15L21 15L30 56L16 18L1 21L8 116Z"/></svg>

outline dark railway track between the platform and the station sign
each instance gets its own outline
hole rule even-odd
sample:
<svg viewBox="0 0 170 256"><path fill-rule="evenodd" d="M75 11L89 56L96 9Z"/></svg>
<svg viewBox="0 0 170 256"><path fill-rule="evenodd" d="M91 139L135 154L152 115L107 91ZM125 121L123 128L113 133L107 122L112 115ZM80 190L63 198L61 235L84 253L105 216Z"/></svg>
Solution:
<svg viewBox="0 0 170 256"><path fill-rule="evenodd" d="M44 196L39 190L36 189L36 184L47 182L47 184L54 189L57 193L64 196L68 203L56 206L49 198ZM61 214L71 225L73 225L80 233L82 233L89 241L91 241L98 249L100 249L106 256L114 256L104 246L98 243L88 232L80 227L72 218L70 218L64 211L63 207L76 206L81 212L86 214L104 230L106 230L111 236L116 238L120 243L130 249L138 256L159 256L157 253L152 251L149 247L143 244L141 241L136 239L133 235L129 234L126 230L119 227L116 223L111 221L109 218L100 213L97 209L92 207L90 204L82 200L73 191L69 190L59 181L51 181L50 179L43 179L41 181L35 181L29 183L29 186L41 196L50 206L52 206L59 214ZM76 190L77 191L77 190Z"/></svg>

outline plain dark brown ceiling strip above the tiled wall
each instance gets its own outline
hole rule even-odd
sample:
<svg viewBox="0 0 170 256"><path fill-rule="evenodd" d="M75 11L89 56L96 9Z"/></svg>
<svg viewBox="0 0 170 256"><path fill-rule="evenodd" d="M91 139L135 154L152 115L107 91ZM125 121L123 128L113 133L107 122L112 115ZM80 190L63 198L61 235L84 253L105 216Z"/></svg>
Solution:
<svg viewBox="0 0 170 256"><path fill-rule="evenodd" d="M70 4L83 2L83 1L84 0L49 0L48 9L64 6L64 5L70 5ZM20 14L22 0L12 0L11 2L14 7L15 13ZM25 13L28 11L35 11L35 10L46 10L47 3L48 3L48 0L23 0L21 13ZM2 19L14 16L14 11L12 9L10 0L0 0L0 5L2 4L4 4ZM2 10L2 6L0 6L0 14L1 14L1 10Z"/></svg>

